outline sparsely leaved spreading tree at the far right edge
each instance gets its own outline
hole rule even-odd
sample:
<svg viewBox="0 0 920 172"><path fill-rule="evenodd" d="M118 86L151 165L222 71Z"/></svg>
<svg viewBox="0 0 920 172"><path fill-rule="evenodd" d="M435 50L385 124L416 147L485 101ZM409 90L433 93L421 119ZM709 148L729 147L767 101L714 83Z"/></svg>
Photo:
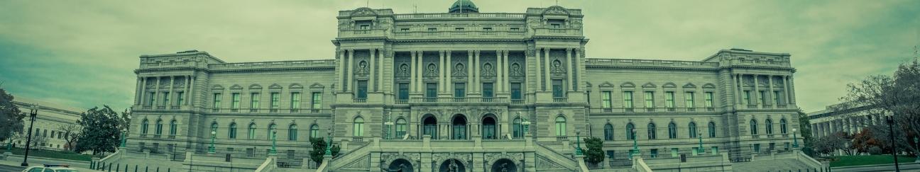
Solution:
<svg viewBox="0 0 920 172"><path fill-rule="evenodd" d="M895 134L902 133L905 137L920 134L920 59L900 64L891 76L869 76L846 87L841 109L863 108L875 116L892 115ZM912 142L894 143L917 153Z"/></svg>

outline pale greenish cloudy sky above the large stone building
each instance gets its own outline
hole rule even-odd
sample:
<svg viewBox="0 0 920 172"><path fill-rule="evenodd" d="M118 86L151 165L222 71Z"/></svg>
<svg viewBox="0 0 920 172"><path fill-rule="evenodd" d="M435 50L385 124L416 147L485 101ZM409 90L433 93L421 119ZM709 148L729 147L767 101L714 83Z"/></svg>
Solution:
<svg viewBox="0 0 920 172"><path fill-rule="evenodd" d="M454 0L0 1L0 82L14 96L129 108L139 56L198 49L228 62L333 59L335 16L357 7L445 13ZM917 0L473 0L483 13L581 8L589 58L791 54L805 112L914 56Z"/></svg>

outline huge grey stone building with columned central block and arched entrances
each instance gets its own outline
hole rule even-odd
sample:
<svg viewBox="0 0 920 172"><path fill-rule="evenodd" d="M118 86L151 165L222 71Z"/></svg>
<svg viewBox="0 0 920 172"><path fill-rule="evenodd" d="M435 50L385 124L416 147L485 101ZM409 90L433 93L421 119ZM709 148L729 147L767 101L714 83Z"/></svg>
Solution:
<svg viewBox="0 0 920 172"><path fill-rule="evenodd" d="M789 54L588 58L582 17L558 5L478 13L468 0L437 14L361 7L339 11L328 59L143 55L127 150L190 168L272 152L279 167L314 167L309 138L322 137L341 146L336 171L572 171L588 136L604 140L605 166L634 147L646 159L791 149Z"/></svg>

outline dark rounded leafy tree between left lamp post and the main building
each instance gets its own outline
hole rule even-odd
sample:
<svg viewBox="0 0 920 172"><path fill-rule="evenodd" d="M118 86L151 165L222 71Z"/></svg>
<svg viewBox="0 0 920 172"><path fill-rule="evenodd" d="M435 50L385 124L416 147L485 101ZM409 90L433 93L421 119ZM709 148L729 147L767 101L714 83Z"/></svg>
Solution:
<svg viewBox="0 0 920 172"><path fill-rule="evenodd" d="M80 121L77 121L83 129L76 140L75 152L93 151L94 155L114 152L121 142L123 115L115 113L108 105L103 105L103 108L94 107L83 113Z"/></svg>

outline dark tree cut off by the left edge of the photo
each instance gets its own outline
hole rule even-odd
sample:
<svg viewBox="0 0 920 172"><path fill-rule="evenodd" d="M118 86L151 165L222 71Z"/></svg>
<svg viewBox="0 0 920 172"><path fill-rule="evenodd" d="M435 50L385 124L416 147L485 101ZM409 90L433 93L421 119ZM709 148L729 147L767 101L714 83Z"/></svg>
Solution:
<svg viewBox="0 0 920 172"><path fill-rule="evenodd" d="M15 132L22 131L22 118L25 113L13 103L13 95L0 88L0 141L6 141Z"/></svg>

